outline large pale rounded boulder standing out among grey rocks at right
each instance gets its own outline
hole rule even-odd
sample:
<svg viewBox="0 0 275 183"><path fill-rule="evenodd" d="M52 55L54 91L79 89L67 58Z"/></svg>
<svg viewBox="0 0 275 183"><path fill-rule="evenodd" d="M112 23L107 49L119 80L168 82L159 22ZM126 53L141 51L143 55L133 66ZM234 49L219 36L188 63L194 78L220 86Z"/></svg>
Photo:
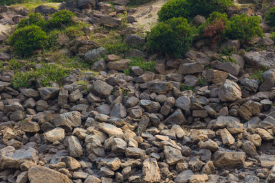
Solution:
<svg viewBox="0 0 275 183"><path fill-rule="evenodd" d="M219 88L218 96L221 101L236 101L241 99L241 88L235 82L225 80Z"/></svg>

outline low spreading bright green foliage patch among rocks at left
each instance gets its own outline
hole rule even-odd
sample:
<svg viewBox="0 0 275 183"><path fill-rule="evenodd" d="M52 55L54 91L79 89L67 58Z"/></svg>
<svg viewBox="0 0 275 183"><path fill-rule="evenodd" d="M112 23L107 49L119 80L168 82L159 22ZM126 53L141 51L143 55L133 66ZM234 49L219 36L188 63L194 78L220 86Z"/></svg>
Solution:
<svg viewBox="0 0 275 183"><path fill-rule="evenodd" d="M38 80L41 86L50 86L52 82L61 82L69 75L69 69L63 69L55 64L43 64L39 69L34 69L25 73L17 72L12 77L12 86L14 88L30 88L33 86L32 81Z"/></svg>

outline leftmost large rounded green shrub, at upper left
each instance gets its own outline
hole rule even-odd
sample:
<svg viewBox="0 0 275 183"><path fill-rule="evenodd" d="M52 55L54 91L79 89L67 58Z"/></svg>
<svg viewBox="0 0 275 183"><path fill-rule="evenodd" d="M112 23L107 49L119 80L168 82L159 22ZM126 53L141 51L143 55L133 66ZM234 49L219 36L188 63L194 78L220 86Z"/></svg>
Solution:
<svg viewBox="0 0 275 183"><path fill-rule="evenodd" d="M48 36L41 27L30 25L14 31L9 44L21 56L29 56L36 49L44 49L48 45Z"/></svg>

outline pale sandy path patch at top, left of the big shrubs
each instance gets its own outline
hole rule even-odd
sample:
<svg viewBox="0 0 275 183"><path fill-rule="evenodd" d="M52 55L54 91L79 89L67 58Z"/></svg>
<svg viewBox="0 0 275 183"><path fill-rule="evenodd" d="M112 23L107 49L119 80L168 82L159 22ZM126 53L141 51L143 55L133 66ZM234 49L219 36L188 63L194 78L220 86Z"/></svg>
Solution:
<svg viewBox="0 0 275 183"><path fill-rule="evenodd" d="M150 30L157 23L157 12L162 5L168 0L157 0L151 3L146 3L137 8L137 12L133 14L136 17L137 23L145 30Z"/></svg>

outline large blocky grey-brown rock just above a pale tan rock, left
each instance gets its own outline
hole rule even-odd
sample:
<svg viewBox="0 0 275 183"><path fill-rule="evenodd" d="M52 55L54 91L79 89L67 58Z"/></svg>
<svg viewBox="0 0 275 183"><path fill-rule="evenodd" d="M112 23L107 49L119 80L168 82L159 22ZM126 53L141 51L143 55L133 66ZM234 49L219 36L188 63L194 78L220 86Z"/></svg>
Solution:
<svg viewBox="0 0 275 183"><path fill-rule="evenodd" d="M80 125L81 114L77 111L59 114L54 118L54 126L63 127L66 132L72 131L73 127L79 127Z"/></svg>

